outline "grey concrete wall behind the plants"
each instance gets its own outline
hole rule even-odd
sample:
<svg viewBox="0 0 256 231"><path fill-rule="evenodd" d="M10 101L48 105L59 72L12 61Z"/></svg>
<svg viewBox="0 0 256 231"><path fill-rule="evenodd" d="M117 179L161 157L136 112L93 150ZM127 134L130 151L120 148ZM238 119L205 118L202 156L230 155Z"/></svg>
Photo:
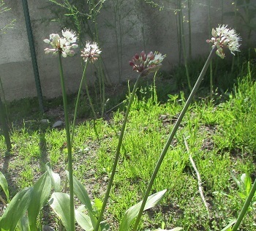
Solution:
<svg viewBox="0 0 256 231"><path fill-rule="evenodd" d="M12 10L0 15L1 26L13 18L15 27L0 34L0 77L7 100L37 96L34 82L34 72L31 64L29 42L26 34L26 23L23 15L22 2L18 0L5 1ZM158 50L167 54L163 69L170 70L178 62L178 37L175 5L170 1L156 1L164 5L163 10L152 8L145 1L113 0L105 1L99 13L99 41L102 50L102 60L105 73L111 83L118 83L136 76L129 67L129 60L141 50ZM216 27L221 22L221 0L212 1L211 26ZM232 1L224 1L224 12L233 10ZM37 63L42 86L42 94L47 98L61 94L59 81L58 58L45 55L46 44L42 41L52 33L61 33L65 25L50 22L53 17L49 10L48 0L28 0L31 26L34 34L34 45L37 53ZM118 6L118 8L116 7ZM115 14L116 10L116 14ZM184 8L184 20L187 20L187 8ZM120 18L118 18L118 15ZM116 16L116 17L115 17ZM192 56L207 54L208 39L208 1L192 1ZM48 23L47 23L48 21ZM235 26L233 18L224 17L223 23ZM0 27L1 27L0 26ZM188 39L188 24L184 23L185 38ZM242 36L246 30L242 26L236 28ZM255 34L252 34L255 41ZM79 52L72 58L63 58L64 75L67 79L69 93L78 90L82 67ZM119 61L118 61L119 57ZM89 81L95 80L94 67L89 69Z"/></svg>

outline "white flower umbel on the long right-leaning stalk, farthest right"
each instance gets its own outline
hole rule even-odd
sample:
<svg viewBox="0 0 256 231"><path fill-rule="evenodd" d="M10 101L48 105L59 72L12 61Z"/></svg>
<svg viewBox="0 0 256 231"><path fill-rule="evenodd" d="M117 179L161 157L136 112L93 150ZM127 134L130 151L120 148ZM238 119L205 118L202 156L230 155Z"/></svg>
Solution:
<svg viewBox="0 0 256 231"><path fill-rule="evenodd" d="M225 58L225 53L223 48L227 47L230 49L230 52L235 56L233 51L240 51L239 41L241 41L241 37L238 36L234 29L227 29L227 25L219 25L217 29L212 29L211 35L213 36L211 39L207 39L206 42L213 43L214 46L217 47L217 55L220 58Z"/></svg>

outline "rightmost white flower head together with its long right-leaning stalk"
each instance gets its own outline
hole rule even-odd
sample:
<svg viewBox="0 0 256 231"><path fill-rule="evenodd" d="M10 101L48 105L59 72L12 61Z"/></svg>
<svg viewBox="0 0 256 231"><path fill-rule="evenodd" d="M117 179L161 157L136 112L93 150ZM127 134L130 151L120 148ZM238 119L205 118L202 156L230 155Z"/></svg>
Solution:
<svg viewBox="0 0 256 231"><path fill-rule="evenodd" d="M157 177L157 173L159 171L159 168L162 164L163 159L165 158L165 154L167 154L167 150L170 146L170 143L172 142L173 137L176 135L178 127L180 126L181 121L184 118L184 115L187 112L187 109L189 108L189 105L191 104L191 102L192 102L192 100L195 96L195 93L196 93L197 89L199 88L200 83L203 80L203 77L206 75L206 71L207 71L208 66L211 62L211 59L214 56L214 53L217 53L218 56L220 56L221 58L224 58L225 54L222 50L222 48L224 46L229 48L231 53L233 53L233 51L239 51L238 50L238 47L239 47L238 41L240 41L241 38L238 37L238 35L236 34L236 31L234 31L233 29L232 30L227 29L227 26L221 26L221 27L219 26L219 28L217 28L216 30L213 29L213 36L214 37L211 40L206 41L206 42L213 42L214 43L214 45L212 46L211 53L209 54L209 56L206 60L206 64L203 66L203 69L200 72L199 77L197 78L197 82L195 83L194 88L192 88L192 91L189 95L189 98L187 99L187 102L185 102L185 105L184 105L183 109L181 110L180 115L178 116L176 124L174 124L174 126L173 126L173 130L170 133L170 136L167 140L167 143L165 144L165 147L163 148L162 153L159 156L156 167L154 168L154 172L151 175L151 179L148 183L148 187L147 187L146 192L144 194L143 201L142 201L142 204L141 204L141 207L140 207L140 211L138 213L137 219L135 221L135 225L133 227L133 231L138 229L138 224L140 223L140 218L142 216L143 210L144 210L145 205L146 205L146 200L148 199L149 193L151 192L154 180Z"/></svg>

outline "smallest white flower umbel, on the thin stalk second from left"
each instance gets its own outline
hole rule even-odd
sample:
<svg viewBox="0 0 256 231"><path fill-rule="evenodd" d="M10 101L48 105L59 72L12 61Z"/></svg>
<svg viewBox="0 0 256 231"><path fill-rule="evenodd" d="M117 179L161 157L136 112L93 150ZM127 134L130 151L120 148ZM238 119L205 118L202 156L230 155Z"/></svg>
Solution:
<svg viewBox="0 0 256 231"><path fill-rule="evenodd" d="M86 42L86 47L81 51L81 56L83 57L83 60L85 62L90 61L94 62L99 58L99 54L102 51L99 50L99 47L97 45L97 42Z"/></svg>

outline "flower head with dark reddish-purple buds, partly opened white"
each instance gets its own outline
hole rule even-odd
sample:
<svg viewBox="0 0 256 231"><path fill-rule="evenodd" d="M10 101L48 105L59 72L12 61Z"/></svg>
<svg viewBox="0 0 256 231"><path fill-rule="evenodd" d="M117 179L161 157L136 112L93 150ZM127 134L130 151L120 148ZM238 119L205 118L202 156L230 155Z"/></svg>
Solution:
<svg viewBox="0 0 256 231"><path fill-rule="evenodd" d="M136 72L141 73L141 75L146 76L151 72L156 72L161 66L162 60L165 58L165 55L162 56L161 53L152 51L146 56L145 51L138 54L132 58L132 61L129 61L129 65L132 66L132 69Z"/></svg>

